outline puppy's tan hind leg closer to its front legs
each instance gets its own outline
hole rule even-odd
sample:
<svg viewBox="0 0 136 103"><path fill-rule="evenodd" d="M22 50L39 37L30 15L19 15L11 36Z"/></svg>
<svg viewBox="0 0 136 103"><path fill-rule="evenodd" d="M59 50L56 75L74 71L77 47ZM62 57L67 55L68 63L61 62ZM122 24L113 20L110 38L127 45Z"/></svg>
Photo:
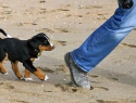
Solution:
<svg viewBox="0 0 136 103"><path fill-rule="evenodd" d="M12 69L13 69L14 74L16 75L16 77L17 77L18 79L24 79L24 77L22 76L22 74L21 74L20 70L18 70L17 64L18 64L17 61L11 62Z"/></svg>

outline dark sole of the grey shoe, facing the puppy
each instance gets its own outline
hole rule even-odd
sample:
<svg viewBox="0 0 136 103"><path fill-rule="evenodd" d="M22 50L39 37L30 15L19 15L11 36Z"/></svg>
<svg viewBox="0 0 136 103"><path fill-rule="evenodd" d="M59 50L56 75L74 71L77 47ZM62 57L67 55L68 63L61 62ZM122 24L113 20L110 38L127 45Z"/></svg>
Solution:
<svg viewBox="0 0 136 103"><path fill-rule="evenodd" d="M69 69L70 69L71 79L72 79L72 81L73 81L77 87L79 87L79 85L77 85L76 81L74 80L74 76L73 76L72 68L71 68L71 66L69 65L69 64L70 64L69 60L70 60L70 53L66 53L66 54L64 55L64 62L65 62L66 66L67 66Z"/></svg>

